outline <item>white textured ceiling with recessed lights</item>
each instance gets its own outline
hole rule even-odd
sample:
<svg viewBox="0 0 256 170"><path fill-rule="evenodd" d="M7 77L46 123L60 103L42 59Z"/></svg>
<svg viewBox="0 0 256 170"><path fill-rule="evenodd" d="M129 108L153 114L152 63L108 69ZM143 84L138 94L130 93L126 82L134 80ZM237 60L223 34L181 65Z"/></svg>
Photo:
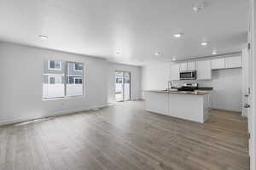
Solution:
<svg viewBox="0 0 256 170"><path fill-rule="evenodd" d="M195 3L205 8L195 13ZM0 40L146 65L241 51L245 0L0 0ZM183 32L183 37L173 34ZM41 40L38 35L49 37ZM202 47L200 42L210 42ZM119 54L116 54L116 52ZM160 55L155 56L155 52Z"/></svg>

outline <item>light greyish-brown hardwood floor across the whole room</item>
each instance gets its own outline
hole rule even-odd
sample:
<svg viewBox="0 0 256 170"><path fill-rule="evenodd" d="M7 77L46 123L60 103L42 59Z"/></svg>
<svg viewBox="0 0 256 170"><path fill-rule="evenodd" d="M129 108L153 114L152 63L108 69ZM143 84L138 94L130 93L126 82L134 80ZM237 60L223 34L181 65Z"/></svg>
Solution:
<svg viewBox="0 0 256 170"><path fill-rule="evenodd" d="M246 145L247 120L238 113L212 111L201 124L125 102L0 127L0 169L244 170Z"/></svg>

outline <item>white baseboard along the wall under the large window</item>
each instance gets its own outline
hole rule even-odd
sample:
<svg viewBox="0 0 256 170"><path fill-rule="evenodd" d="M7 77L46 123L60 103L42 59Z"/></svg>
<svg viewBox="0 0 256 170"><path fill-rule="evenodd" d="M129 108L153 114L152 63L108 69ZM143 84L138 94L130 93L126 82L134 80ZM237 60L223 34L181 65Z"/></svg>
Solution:
<svg viewBox="0 0 256 170"><path fill-rule="evenodd" d="M93 109L103 108L103 107L107 107L107 106L108 106L108 104L94 105L94 106L88 106L88 107L79 108L79 109L58 111L58 112L55 112L55 113L46 113L44 116L30 116L30 117L22 117L22 118L19 118L19 119L3 120L3 121L0 121L0 126L15 124L15 123L19 123L19 122L28 122L28 121L32 121L32 120L35 120L35 119L42 119L42 118L52 117L52 116L68 115L68 114L72 114L72 113L78 113L78 112L81 112L81 111L90 111L90 110L93 110Z"/></svg>

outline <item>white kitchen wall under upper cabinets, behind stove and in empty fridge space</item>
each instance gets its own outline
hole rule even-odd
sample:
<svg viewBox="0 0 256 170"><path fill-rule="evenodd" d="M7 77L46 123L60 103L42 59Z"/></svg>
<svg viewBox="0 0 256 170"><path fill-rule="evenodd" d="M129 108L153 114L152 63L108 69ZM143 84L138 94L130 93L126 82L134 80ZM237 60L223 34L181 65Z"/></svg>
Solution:
<svg viewBox="0 0 256 170"><path fill-rule="evenodd" d="M212 80L179 81L198 82L201 87L212 87L212 108L226 111L241 111L241 68L212 71Z"/></svg>

